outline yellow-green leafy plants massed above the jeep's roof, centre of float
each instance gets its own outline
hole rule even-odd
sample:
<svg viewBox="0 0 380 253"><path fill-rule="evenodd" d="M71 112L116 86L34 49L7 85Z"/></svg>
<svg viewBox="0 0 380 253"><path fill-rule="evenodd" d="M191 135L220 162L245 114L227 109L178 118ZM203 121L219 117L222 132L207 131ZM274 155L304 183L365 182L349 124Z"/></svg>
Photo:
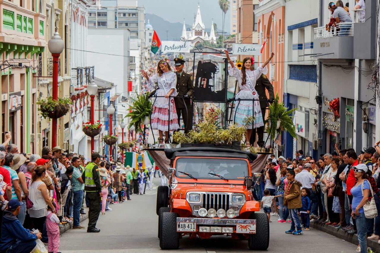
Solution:
<svg viewBox="0 0 380 253"><path fill-rule="evenodd" d="M233 144L243 140L247 126L252 125L253 117L245 119L245 126L239 126L237 123L229 125L226 129L220 128L220 122L217 121L222 113L220 109L209 109L204 121L196 125L196 130L191 130L188 134L176 131L173 134L173 140L177 143L210 143L210 144Z"/></svg>

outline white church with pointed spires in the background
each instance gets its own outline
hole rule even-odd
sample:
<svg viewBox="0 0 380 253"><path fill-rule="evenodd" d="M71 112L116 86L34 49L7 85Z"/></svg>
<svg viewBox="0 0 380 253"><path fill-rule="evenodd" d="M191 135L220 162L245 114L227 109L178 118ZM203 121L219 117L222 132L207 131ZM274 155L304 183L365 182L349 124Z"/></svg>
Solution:
<svg viewBox="0 0 380 253"><path fill-rule="evenodd" d="M192 28L189 31L186 30L186 25L184 21L181 37L183 38L182 40L190 41L190 44L192 46L196 46L196 44L203 41L210 41L214 44L216 43L217 38L215 37L214 22L211 23L211 31L210 34L208 34L204 29L204 24L202 22L201 17L201 9L199 5L195 16L195 21L193 23Z"/></svg>

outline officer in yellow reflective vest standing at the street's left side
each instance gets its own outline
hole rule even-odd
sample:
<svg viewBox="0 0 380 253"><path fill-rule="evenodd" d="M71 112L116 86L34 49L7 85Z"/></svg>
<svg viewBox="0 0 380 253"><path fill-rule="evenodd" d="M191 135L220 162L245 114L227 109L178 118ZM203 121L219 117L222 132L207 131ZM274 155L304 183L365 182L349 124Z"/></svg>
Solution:
<svg viewBox="0 0 380 253"><path fill-rule="evenodd" d="M86 191L87 199L89 200L89 226L87 232L97 233L100 229L95 228L100 213L101 202L101 183L98 164L100 163L100 155L98 152L93 152L91 155L91 163L87 164L82 173L84 181L84 191Z"/></svg>

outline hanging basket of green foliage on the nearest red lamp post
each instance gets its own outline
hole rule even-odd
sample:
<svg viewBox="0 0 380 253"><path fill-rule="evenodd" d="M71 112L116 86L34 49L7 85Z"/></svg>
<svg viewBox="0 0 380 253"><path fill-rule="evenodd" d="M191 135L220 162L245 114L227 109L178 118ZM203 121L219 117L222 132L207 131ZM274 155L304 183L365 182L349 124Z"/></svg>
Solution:
<svg viewBox="0 0 380 253"><path fill-rule="evenodd" d="M58 98L58 101L55 101L49 96L46 100L38 100L37 104L40 106L38 111L44 119L59 119L67 114L73 101L70 98Z"/></svg>

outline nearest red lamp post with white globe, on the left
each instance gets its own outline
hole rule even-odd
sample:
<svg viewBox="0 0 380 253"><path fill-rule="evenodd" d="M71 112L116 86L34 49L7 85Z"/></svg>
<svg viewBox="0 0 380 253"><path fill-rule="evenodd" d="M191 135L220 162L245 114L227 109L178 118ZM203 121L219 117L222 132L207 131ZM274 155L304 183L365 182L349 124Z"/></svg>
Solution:
<svg viewBox="0 0 380 253"><path fill-rule="evenodd" d="M57 30L55 30L54 36L47 43L47 47L49 47L49 51L53 57L53 100L58 101L59 56L65 47L65 43ZM57 119L52 119L51 137L51 146L57 146Z"/></svg>

